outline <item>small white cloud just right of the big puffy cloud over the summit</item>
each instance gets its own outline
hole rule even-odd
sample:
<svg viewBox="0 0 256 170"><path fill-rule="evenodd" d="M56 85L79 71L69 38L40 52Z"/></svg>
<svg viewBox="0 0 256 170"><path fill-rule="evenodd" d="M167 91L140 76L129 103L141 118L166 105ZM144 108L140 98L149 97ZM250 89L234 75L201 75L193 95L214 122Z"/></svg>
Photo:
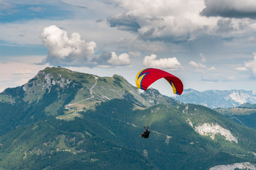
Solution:
<svg viewBox="0 0 256 170"><path fill-rule="evenodd" d="M129 59L129 55L127 53L120 54L119 57L117 57L115 52L112 52L112 57L110 60L108 60L108 63L113 66L127 66L131 63L131 60Z"/></svg>

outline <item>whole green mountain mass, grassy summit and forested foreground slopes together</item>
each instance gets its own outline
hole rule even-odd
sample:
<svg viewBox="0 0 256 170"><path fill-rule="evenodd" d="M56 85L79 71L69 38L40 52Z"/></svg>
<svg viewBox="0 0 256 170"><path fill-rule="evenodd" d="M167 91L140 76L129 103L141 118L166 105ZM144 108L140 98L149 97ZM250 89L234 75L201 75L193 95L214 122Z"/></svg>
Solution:
<svg viewBox="0 0 256 170"><path fill-rule="evenodd" d="M256 169L256 130L118 75L46 68L0 97L3 170Z"/></svg>

